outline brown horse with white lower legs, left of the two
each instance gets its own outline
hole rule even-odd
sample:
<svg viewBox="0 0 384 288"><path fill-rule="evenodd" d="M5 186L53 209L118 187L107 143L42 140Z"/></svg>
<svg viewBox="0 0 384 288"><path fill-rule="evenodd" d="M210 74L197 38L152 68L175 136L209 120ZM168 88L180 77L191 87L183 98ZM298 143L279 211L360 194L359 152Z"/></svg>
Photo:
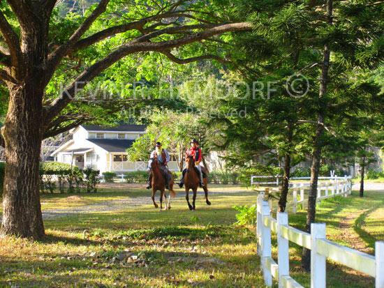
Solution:
<svg viewBox="0 0 384 288"><path fill-rule="evenodd" d="M158 167L158 162L157 158L152 158L152 163L151 163L151 170L152 170L152 201L154 202L155 208L158 208L158 205L155 202L155 194L156 191L160 191L160 211L163 210L163 197L165 199L165 210L170 209L170 197L172 195L172 198L175 197L176 192L173 190L173 184L175 181L173 181L173 175L170 171L168 171L168 174L170 174L170 193L168 195L168 202L167 202L167 195L165 193L165 179L163 176L163 173L161 172L160 168ZM167 175L168 177L168 175Z"/></svg>

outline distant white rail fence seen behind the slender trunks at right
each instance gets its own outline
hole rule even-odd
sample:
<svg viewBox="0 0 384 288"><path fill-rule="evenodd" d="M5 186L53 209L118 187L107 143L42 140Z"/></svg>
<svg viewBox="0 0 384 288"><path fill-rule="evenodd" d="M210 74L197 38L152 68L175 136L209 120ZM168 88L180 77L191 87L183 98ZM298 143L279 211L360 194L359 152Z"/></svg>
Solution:
<svg viewBox="0 0 384 288"><path fill-rule="evenodd" d="M307 180L309 177L295 177L291 180ZM319 180L328 180L318 183L318 193L316 200L320 204L321 200L335 197L347 197L352 192L352 178L351 176L344 177L319 177ZM293 183L291 184L289 192L292 193L292 202L286 204L286 209L290 209L293 213L297 212L297 207L301 206L305 209L308 205L308 196L305 190L309 189L309 183ZM280 188L265 188L265 194L269 192L279 192ZM307 197L307 198L306 198ZM276 212L277 207L273 205L273 199L269 198L269 206L272 211Z"/></svg>

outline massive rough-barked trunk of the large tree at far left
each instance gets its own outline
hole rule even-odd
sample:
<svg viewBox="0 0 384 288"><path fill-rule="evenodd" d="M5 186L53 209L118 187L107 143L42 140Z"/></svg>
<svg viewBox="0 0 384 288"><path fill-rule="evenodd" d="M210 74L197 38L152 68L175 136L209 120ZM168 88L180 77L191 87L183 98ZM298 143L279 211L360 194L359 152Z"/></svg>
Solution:
<svg viewBox="0 0 384 288"><path fill-rule="evenodd" d="M16 84L7 83L8 113L1 130L6 148L1 233L44 236L39 194L40 146L45 129L43 93L47 63L49 17L22 27L22 66L13 71Z"/></svg>

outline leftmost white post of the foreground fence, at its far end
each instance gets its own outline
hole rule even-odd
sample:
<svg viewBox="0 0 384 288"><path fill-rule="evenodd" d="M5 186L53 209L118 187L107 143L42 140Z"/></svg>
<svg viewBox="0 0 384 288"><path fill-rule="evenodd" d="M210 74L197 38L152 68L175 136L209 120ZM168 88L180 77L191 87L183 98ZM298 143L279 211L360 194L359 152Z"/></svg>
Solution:
<svg viewBox="0 0 384 288"><path fill-rule="evenodd" d="M265 264L265 258L272 256L271 229L269 227L265 227L263 218L270 215L271 211L269 209L269 204L267 201L263 201L263 204L261 205L261 265L263 268L264 284L266 286L272 286L272 274Z"/></svg>

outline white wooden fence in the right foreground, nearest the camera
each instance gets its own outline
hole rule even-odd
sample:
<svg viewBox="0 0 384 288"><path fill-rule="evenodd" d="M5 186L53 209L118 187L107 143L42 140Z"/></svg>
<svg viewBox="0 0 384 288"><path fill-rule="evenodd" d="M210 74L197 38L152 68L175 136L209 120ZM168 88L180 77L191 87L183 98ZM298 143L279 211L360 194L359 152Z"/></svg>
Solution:
<svg viewBox="0 0 384 288"><path fill-rule="evenodd" d="M288 225L288 214L277 213L277 220L271 217L269 203L264 195L258 197L257 241L258 255L261 257L261 270L264 282L272 286L272 277L279 287L302 287L289 275L289 241L311 250L311 287L325 288L326 259L371 275L376 278L376 288L384 288L384 241L375 244L375 256L339 245L325 238L325 224L312 223L311 234ZM277 262L272 259L271 232L277 234Z"/></svg>

